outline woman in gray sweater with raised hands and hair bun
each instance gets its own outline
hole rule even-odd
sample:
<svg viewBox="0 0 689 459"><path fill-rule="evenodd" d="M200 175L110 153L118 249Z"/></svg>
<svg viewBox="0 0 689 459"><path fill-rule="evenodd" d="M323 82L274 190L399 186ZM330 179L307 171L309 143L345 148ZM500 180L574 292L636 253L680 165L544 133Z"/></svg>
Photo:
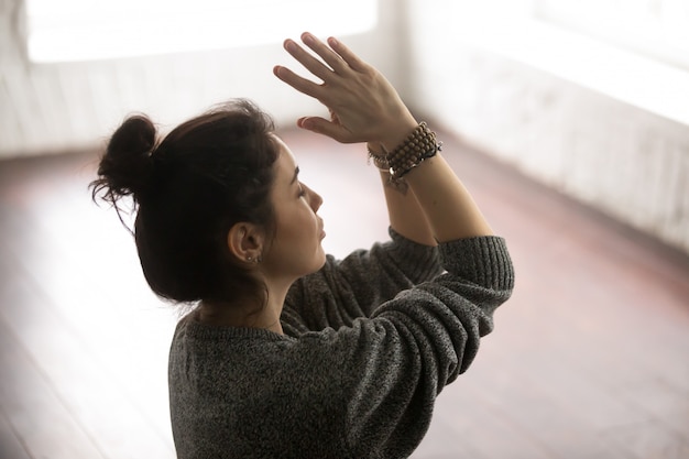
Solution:
<svg viewBox="0 0 689 459"><path fill-rule="evenodd" d="M157 143L127 120L94 193L133 195L152 289L195 307L169 354L179 458L402 458L442 387L467 370L512 264L435 134L373 67L335 39L287 40L316 84L275 75L330 110L297 124L368 142L391 240L326 256L321 198L270 119L248 101L195 118ZM117 207L116 207L117 208Z"/></svg>

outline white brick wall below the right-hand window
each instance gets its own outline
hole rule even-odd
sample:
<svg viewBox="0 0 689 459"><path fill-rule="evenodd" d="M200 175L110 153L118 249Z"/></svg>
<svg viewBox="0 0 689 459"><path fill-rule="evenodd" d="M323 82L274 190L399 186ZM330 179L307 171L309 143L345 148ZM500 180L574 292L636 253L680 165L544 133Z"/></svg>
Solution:
<svg viewBox="0 0 689 459"><path fill-rule="evenodd" d="M531 57L546 40L520 47L518 34L499 36L505 34L500 28L486 34L490 24L463 21L464 0L408 3L414 79L406 92L417 111L527 175L689 253L689 125L669 119L689 109L681 78L642 78L623 100L621 89L637 75L622 72L610 83L594 75L604 66L616 70L610 62L588 73L572 65L575 57L553 55L539 63ZM493 3L497 20L518 15L499 8L516 10L518 2L484 3ZM467 36L466 28L493 43ZM580 74L556 67L560 57ZM674 80L677 89L667 87ZM689 74L683 81L689 84ZM675 103L642 107L654 92L656 101Z"/></svg>

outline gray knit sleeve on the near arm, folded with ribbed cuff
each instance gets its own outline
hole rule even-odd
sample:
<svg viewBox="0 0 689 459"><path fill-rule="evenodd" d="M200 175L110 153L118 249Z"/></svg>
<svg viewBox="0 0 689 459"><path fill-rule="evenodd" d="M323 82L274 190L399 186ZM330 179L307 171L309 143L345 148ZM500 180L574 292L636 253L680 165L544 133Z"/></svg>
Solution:
<svg viewBox="0 0 689 459"><path fill-rule="evenodd" d="M317 335L337 359L328 364L344 392L352 457L407 457L418 446L436 396L469 368L511 295L502 239L456 241L440 252L447 273L400 293L370 319Z"/></svg>

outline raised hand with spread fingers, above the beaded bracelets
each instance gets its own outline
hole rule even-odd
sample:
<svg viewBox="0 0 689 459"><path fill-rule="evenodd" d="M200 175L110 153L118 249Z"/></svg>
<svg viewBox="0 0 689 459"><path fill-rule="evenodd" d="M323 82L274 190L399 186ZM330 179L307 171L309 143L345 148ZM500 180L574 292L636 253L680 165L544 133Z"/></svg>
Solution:
<svg viewBox="0 0 689 459"><path fill-rule="evenodd" d="M330 37L325 44L310 33L302 34L302 41L322 61L292 40L286 40L284 47L322 84L282 66L275 66L273 73L318 99L330 111L330 119L303 117L297 125L342 143L381 143L392 150L418 124L387 79L342 43Z"/></svg>

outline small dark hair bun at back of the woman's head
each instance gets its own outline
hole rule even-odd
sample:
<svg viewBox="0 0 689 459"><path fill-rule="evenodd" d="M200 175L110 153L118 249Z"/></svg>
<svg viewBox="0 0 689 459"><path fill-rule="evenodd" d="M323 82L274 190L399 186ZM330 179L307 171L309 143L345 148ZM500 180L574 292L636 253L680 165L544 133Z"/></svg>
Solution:
<svg viewBox="0 0 689 459"><path fill-rule="evenodd" d="M105 192L102 198L112 204L129 195L140 201L151 186L155 139L155 125L147 117L128 118L110 138L100 160L99 178L91 184L94 196Z"/></svg>

